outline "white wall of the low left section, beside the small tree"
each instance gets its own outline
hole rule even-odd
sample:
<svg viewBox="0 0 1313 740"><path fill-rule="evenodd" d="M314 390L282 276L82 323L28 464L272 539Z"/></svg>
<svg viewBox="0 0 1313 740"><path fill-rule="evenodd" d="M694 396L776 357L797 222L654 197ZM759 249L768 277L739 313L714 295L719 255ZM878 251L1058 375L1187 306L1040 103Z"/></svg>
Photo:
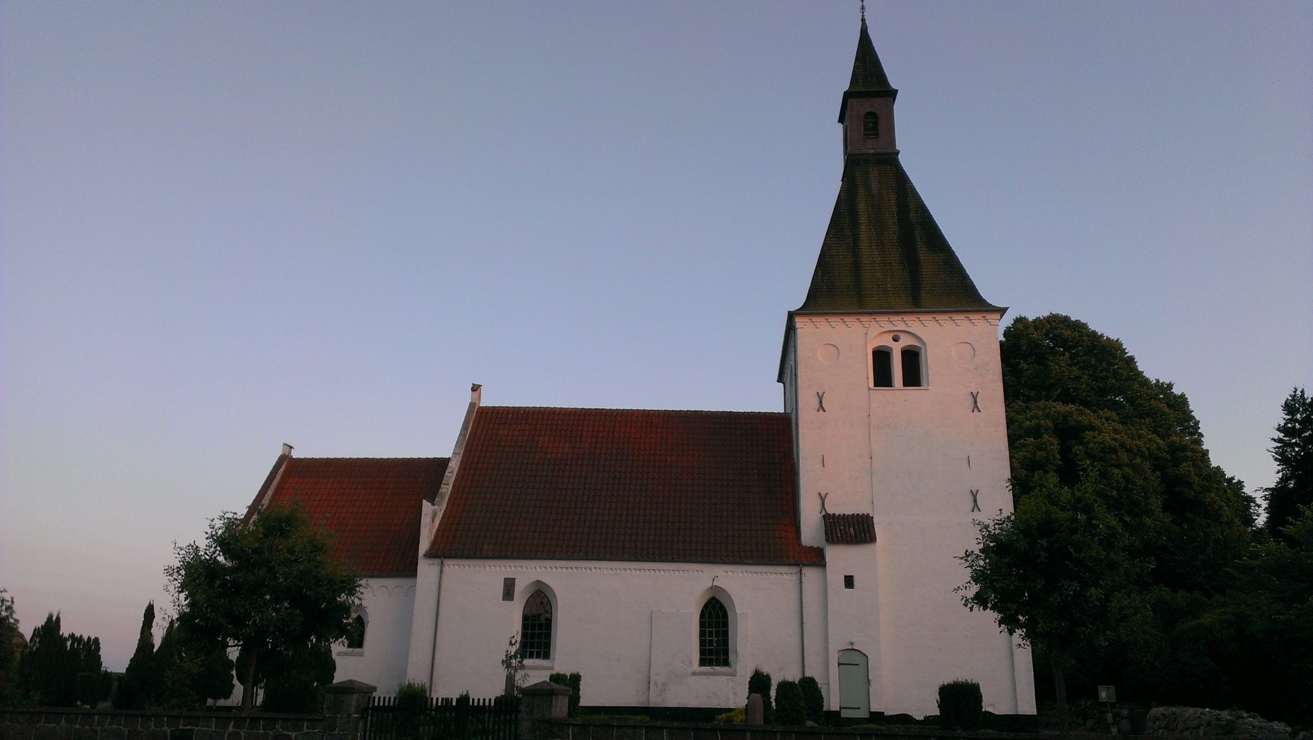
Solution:
<svg viewBox="0 0 1313 740"><path fill-rule="evenodd" d="M361 609L366 618L365 647L334 646L337 661L335 681L353 678L391 695L406 680L411 619L415 611L415 579L362 579Z"/></svg>

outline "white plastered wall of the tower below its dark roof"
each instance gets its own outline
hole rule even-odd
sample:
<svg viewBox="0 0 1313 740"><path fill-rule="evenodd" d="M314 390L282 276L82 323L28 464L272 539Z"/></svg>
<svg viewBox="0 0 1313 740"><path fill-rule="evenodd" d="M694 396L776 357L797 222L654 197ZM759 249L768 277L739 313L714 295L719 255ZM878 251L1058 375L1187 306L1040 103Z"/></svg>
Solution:
<svg viewBox="0 0 1313 740"><path fill-rule="evenodd" d="M825 545L819 493L831 513L876 521L874 546L826 550L827 660L848 647L867 653L872 711L935 714L937 686L953 678L979 681L990 711L1035 711L1028 651L953 592L966 581L956 556L976 545L973 521L1012 509L999 319L794 318L784 379L796 384L786 398L798 399L802 539ZM871 348L889 332L911 335L895 348L924 345L924 387L871 387ZM825 394L825 411L817 394ZM979 510L972 510L972 491ZM853 590L843 588L844 575L855 576ZM827 694L838 709L838 691Z"/></svg>

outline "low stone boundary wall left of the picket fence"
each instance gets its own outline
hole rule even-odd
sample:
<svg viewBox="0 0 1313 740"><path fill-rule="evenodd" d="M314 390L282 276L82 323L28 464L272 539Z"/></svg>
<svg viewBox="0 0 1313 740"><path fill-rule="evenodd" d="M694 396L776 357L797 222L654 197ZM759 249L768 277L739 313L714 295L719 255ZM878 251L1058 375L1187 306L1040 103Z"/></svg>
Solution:
<svg viewBox="0 0 1313 740"><path fill-rule="evenodd" d="M352 716L0 710L0 740L356 740Z"/></svg>

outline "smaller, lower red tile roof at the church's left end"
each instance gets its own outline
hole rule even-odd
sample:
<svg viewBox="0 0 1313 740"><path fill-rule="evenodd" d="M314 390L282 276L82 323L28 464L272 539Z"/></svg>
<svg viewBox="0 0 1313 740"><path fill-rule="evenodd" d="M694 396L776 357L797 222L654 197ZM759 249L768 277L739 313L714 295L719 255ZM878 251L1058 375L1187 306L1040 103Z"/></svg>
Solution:
<svg viewBox="0 0 1313 740"><path fill-rule="evenodd" d="M265 489L273 484L270 505L299 503L334 533L334 554L356 575L414 576L420 501L445 472L446 458L286 458Z"/></svg>

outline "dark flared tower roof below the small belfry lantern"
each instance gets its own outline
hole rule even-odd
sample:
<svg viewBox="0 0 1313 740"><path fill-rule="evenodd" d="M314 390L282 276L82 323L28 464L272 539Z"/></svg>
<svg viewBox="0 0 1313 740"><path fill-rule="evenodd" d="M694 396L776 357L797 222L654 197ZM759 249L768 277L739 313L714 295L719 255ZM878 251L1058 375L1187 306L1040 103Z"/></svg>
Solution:
<svg viewBox="0 0 1313 740"><path fill-rule="evenodd" d="M1001 311L976 290L897 155L850 155L800 312Z"/></svg>

